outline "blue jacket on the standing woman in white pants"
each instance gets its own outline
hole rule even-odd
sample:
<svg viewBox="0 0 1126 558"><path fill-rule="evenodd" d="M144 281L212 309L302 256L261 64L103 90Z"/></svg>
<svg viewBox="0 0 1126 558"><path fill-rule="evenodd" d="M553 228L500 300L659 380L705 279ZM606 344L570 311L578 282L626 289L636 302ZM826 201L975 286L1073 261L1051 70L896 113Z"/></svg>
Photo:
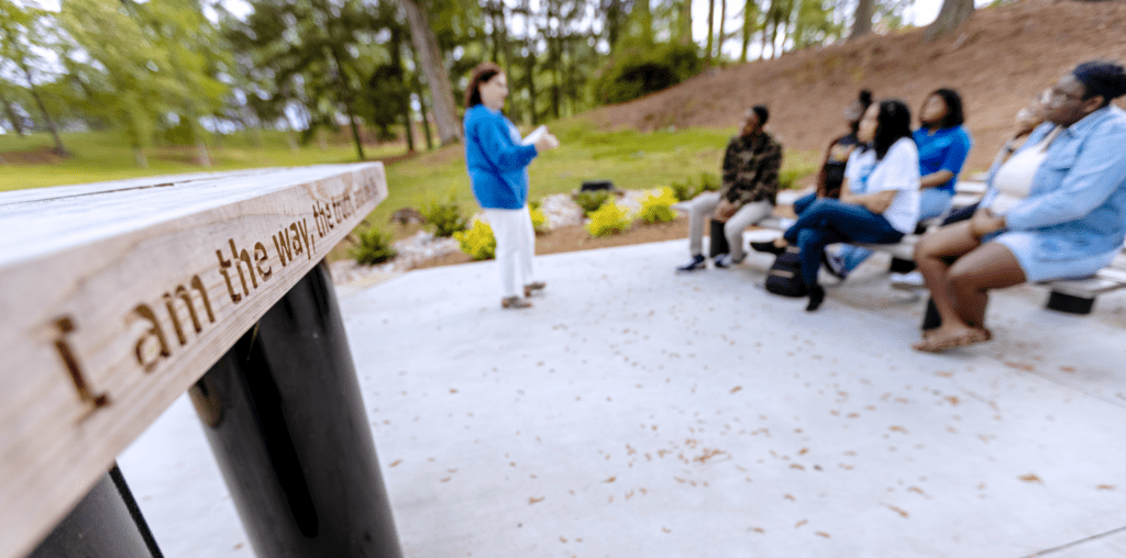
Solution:
<svg viewBox="0 0 1126 558"><path fill-rule="evenodd" d="M519 209L528 201L528 163L535 145L499 110L476 105L465 111L465 165L473 196L486 209Z"/></svg>

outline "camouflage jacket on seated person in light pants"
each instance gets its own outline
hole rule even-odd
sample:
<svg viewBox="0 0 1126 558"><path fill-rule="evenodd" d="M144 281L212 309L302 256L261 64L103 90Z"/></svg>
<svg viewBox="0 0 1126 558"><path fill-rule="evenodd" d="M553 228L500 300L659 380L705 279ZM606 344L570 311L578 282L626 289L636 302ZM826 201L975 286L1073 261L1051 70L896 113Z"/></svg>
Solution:
<svg viewBox="0 0 1126 558"><path fill-rule="evenodd" d="M742 206L778 196L778 169L781 166L781 144L769 133L736 136L727 144L723 156L723 187L720 195Z"/></svg>

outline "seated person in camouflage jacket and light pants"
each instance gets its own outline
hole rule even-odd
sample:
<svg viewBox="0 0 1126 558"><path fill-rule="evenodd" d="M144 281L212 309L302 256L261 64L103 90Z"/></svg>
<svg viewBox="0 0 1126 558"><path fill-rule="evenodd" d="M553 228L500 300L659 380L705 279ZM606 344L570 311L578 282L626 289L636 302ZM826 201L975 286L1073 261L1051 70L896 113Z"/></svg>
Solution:
<svg viewBox="0 0 1126 558"><path fill-rule="evenodd" d="M704 225L708 217L724 223L731 253L718 254L715 264L725 268L743 261L743 230L769 217L778 196L781 145L762 129L770 112L759 105L747 111L743 129L727 144L723 156L723 186L704 192L688 208L688 249L692 260L678 271L703 269Z"/></svg>

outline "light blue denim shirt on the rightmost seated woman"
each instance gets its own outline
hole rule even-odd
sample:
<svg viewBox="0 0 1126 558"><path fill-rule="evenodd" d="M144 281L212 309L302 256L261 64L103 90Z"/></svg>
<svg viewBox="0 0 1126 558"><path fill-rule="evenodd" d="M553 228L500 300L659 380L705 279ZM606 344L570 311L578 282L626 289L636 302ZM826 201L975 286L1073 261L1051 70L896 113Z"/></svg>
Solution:
<svg viewBox="0 0 1126 558"><path fill-rule="evenodd" d="M1042 124L1019 151L1054 128ZM990 192L994 196L990 171ZM1126 112L1110 105L1060 133L1036 171L1028 197L1004 217L1009 231L1042 233L1036 258L1072 260L1120 249L1126 240Z"/></svg>

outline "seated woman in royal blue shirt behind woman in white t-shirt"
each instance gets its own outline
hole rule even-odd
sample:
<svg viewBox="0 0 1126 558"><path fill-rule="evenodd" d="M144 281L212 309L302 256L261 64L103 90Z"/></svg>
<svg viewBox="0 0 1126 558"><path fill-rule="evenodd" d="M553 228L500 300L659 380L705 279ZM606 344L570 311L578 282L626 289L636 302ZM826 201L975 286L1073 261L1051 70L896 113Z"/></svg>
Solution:
<svg viewBox="0 0 1126 558"><path fill-rule="evenodd" d="M927 96L919 114L920 127L913 135L922 174L919 220L942 215L954 201L954 184L973 146L964 123L962 96L957 91L944 88ZM870 255L870 250L844 246L830 258L829 270L843 279ZM910 262L905 263L909 271Z"/></svg>

